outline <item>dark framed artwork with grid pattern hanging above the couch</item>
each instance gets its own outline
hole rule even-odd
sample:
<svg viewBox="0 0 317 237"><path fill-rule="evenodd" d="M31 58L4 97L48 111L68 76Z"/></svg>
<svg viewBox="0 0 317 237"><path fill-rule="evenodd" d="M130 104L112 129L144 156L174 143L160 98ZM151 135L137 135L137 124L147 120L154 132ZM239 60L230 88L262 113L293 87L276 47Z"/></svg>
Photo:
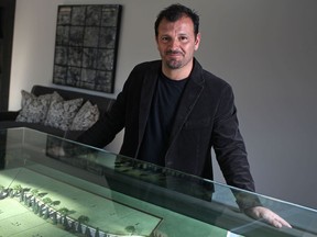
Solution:
<svg viewBox="0 0 317 237"><path fill-rule="evenodd" d="M53 83L113 92L121 9L58 5Z"/></svg>

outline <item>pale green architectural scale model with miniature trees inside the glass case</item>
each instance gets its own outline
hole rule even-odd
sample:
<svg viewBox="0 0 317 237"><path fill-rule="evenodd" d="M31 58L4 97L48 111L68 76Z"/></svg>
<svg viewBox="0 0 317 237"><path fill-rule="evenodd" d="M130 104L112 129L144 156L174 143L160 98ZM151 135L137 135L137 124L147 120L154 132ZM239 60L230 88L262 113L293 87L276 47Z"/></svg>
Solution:
<svg viewBox="0 0 317 237"><path fill-rule="evenodd" d="M158 217L25 168L20 169L13 181L11 178L10 173L0 172L1 237L20 233L39 237L52 236L52 233L54 237L65 236L65 233L69 236L142 237L151 236L161 222ZM45 234L48 230L51 234Z"/></svg>

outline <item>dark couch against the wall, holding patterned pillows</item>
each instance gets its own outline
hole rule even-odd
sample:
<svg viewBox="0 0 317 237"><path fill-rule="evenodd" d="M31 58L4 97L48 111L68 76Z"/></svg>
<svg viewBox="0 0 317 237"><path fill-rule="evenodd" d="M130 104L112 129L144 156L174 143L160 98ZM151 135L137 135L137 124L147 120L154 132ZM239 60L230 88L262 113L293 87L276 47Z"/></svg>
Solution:
<svg viewBox="0 0 317 237"><path fill-rule="evenodd" d="M97 108L98 110L98 117L100 117L105 112L107 112L111 105L114 102L114 99L110 99L110 98L106 98L106 97L101 97L101 95L94 95L94 94L88 94L88 93L84 93L84 92L78 92L78 91L73 91L73 90L65 90L65 89L57 89L57 88L52 88L52 87L44 87L44 86L40 86L40 84L35 84L33 86L32 90L30 93L25 92L25 91L21 91L22 93L22 102L21 102L21 110L19 111L1 111L0 112L0 129L4 129L4 128L12 128L12 127L29 127L29 128L33 128L40 132L44 132L47 134L52 134L58 137L65 137L67 139L72 139L75 140L85 129L87 129L88 127L81 127L80 128L80 124L79 124L79 128L77 126L77 128L73 128L70 129L70 127L61 127L56 124L54 124L54 122L58 119L54 117L54 112L52 112L52 120L51 120L51 124L50 122L47 122L47 117L44 121L28 121L29 117L28 115L25 116L24 114L24 119L22 116L21 120L21 113L23 111L23 103L25 105L25 98L29 97L29 99L39 99L39 98L45 98L47 94L53 94L53 93L57 93L57 95L59 95L59 98L62 98L63 102L68 102L68 101L77 101L77 104L80 104L78 106L77 110L73 111L73 115L75 115L74 117L72 117L72 120L75 121L76 114L79 114L79 111L81 109L81 117L86 116L88 113L85 111L83 111L84 109L84 104L87 105L88 103L90 104L90 108ZM24 99L24 101L23 101ZM80 102L81 101L81 102ZM34 101L33 101L34 102ZM36 102L36 101L35 101ZM43 102L43 100L42 100ZM87 104L86 104L87 102ZM62 102L61 102L62 103ZM57 108L57 105L63 106L63 104L61 105L61 103L55 103L55 106ZM50 106L50 111L52 109L52 104ZM34 105L34 104L33 104ZM35 104L36 105L36 104ZM73 106L74 104L72 104ZM64 106L65 103L64 103ZM69 108L69 105L68 105ZM50 114L50 111L45 112L45 116ZM30 111L29 111L30 112ZM31 111L32 113L32 111ZM63 113L61 113L63 114ZM66 114L66 113L65 113ZM96 115L96 114L94 114ZM20 117L20 120L18 119ZM97 120L98 120L97 117ZM43 117L44 119L44 117ZM69 117L67 117L68 120ZM62 119L63 120L63 119ZM69 120L68 120L69 122ZM77 120L78 122L78 120ZM80 121L78 122L80 123ZM90 124L89 126L91 126L92 124Z"/></svg>

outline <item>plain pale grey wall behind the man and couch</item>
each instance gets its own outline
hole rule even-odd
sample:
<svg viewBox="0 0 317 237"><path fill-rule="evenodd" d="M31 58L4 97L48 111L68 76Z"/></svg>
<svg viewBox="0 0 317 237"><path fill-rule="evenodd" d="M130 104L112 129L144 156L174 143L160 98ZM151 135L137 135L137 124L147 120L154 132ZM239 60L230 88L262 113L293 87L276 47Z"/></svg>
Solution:
<svg viewBox="0 0 317 237"><path fill-rule="evenodd" d="M234 89L258 192L317 208L317 1L178 2L200 14L198 60ZM158 58L153 23L173 1L17 0L11 110L20 109L21 89L57 87L52 84L57 4L80 3L123 5L116 92L105 95L118 94L135 64ZM223 181L216 170L216 180Z"/></svg>

